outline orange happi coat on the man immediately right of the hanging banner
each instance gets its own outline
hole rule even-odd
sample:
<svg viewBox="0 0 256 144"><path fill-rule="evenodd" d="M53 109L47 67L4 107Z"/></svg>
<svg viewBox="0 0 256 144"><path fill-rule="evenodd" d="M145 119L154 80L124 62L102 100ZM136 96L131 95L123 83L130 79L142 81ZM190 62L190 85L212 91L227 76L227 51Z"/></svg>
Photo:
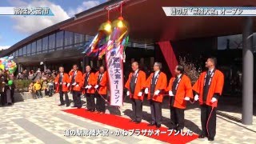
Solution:
<svg viewBox="0 0 256 144"><path fill-rule="evenodd" d="M134 73L129 74L129 78L125 85L126 89L128 89L129 91L130 91L130 80L133 74ZM146 73L142 70L138 70L138 78L135 84L134 95L130 94L130 98L143 100L144 94L142 94L142 96L138 96L138 93L143 92L142 90L145 87L145 83L146 83Z"/></svg>

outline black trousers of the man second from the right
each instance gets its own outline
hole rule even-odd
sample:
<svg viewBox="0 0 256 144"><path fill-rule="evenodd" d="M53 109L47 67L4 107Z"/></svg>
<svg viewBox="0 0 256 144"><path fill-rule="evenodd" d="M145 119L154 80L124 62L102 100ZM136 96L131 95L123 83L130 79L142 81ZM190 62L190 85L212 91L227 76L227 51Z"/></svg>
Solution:
<svg viewBox="0 0 256 144"><path fill-rule="evenodd" d="M170 129L183 130L184 128L184 109L170 106Z"/></svg>

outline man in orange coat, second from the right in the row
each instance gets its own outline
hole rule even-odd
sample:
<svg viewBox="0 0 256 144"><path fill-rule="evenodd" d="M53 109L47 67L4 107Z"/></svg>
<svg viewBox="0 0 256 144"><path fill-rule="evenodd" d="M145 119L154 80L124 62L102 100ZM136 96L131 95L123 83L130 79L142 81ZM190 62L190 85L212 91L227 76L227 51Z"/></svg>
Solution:
<svg viewBox="0 0 256 144"><path fill-rule="evenodd" d="M190 78L184 74L184 67L178 65L174 71L176 76L170 78L169 86L166 89L170 95L170 129L181 131L184 128L186 101L194 97Z"/></svg>

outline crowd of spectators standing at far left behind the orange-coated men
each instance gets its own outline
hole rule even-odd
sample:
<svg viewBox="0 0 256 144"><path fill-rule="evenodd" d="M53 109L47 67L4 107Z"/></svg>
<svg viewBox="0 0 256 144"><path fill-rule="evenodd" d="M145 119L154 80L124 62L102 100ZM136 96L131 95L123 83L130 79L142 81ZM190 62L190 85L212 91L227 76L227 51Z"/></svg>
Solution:
<svg viewBox="0 0 256 144"><path fill-rule="evenodd" d="M10 106L14 104L14 90L16 88L14 81L27 80L30 84L27 86L28 92L34 95L34 98L51 97L54 94L54 78L57 76L55 70L42 71L40 68L34 70L23 70L16 76L10 74L8 70L0 70L0 96L1 105ZM42 93L42 91L44 93Z"/></svg>

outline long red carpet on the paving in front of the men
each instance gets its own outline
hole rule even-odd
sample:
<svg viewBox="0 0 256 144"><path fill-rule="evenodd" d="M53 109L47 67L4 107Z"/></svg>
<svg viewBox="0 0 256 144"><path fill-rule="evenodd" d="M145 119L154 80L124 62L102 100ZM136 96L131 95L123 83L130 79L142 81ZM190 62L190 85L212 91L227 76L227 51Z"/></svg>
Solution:
<svg viewBox="0 0 256 144"><path fill-rule="evenodd" d="M187 143L187 142L193 141L194 139L198 138L198 135L196 134L193 134L192 136L187 136L187 135L182 136L181 134L174 136L175 132L173 132L170 136L168 136L168 134L170 134L170 131L167 131L165 127L161 127L159 129L160 134L155 135L155 130L157 130L155 126L147 126L147 123L145 122L141 122L140 124L135 124L134 122L129 122L130 119L128 118L122 118L121 116L113 115L113 114L102 114L102 115L92 114L90 112L86 112L85 109L70 109L70 110L63 110L63 111L65 111L66 113L78 115L82 118L90 119L95 122L100 122L109 126L114 126L114 127L117 127L118 129L136 130L136 132L134 132L135 136L138 134L137 130L141 131L140 135L145 134L145 133L142 133L142 130L154 130L154 134L149 136L147 135L148 132L146 132L145 136L149 138L158 139L159 141L162 141L162 142L181 144L181 143ZM161 132L166 132L166 134Z"/></svg>

